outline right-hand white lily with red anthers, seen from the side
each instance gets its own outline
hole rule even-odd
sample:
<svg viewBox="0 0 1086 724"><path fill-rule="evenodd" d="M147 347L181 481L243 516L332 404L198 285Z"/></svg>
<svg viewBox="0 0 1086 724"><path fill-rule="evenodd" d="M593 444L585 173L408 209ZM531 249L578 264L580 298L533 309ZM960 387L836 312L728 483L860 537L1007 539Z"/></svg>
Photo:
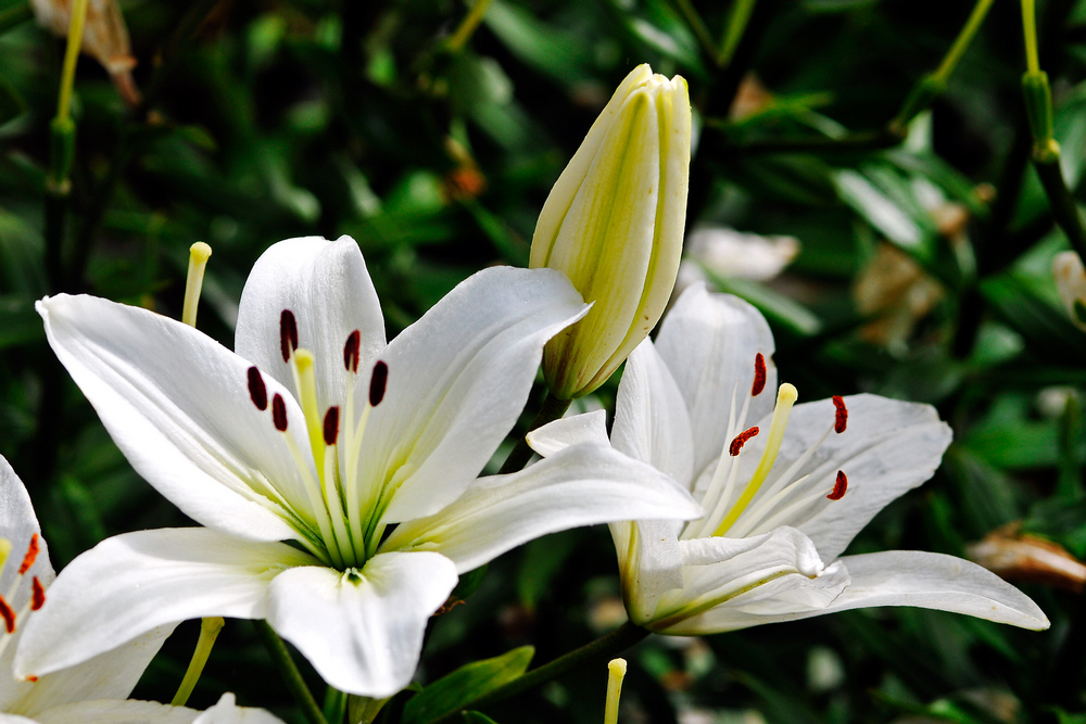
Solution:
<svg viewBox="0 0 1086 724"><path fill-rule="evenodd" d="M875 395L774 405L773 338L737 297L689 289L656 344L630 356L610 442L667 472L707 511L686 524L611 525L627 611L705 634L871 606L957 611L1026 628L1048 619L969 561L893 550L841 556L886 504L927 480L950 444L930 405ZM752 424L754 423L754 424ZM529 435L542 455L606 440L603 412Z"/></svg>

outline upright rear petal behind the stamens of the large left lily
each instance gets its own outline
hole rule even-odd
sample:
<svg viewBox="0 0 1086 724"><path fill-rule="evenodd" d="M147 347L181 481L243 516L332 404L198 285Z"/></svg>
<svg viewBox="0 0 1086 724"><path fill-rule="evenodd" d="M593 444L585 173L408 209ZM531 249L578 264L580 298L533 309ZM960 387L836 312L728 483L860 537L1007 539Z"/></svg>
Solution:
<svg viewBox="0 0 1086 724"><path fill-rule="evenodd" d="M245 281L235 350L294 391L279 345L283 309L294 314L299 345L316 358L318 409L342 404L354 384L343 361L348 336L361 333L359 370L368 370L384 348L381 305L354 239L280 241L256 259Z"/></svg>

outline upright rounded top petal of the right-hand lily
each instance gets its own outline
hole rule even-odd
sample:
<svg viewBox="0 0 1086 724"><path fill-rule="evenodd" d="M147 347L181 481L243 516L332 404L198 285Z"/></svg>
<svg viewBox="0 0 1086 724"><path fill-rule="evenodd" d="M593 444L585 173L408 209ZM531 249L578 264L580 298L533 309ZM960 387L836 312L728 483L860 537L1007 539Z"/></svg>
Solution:
<svg viewBox="0 0 1086 724"><path fill-rule="evenodd" d="M704 284L682 293L665 317L656 351L682 391L694 432L694 472L720 455L728 435L732 395L736 414L754 384L754 360L766 358L766 389L750 401L747 427L773 408L776 367L773 334L753 306L730 294L710 294Z"/></svg>

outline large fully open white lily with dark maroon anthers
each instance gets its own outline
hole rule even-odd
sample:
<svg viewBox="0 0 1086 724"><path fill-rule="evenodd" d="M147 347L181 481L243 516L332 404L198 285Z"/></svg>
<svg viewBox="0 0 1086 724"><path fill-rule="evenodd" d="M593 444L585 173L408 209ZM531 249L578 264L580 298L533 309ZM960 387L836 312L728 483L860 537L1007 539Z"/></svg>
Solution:
<svg viewBox="0 0 1086 724"><path fill-rule="evenodd" d="M346 237L265 252L237 354L144 309L42 300L50 344L114 441L206 528L121 535L73 561L16 672L220 615L266 619L336 688L388 697L411 681L457 574L558 530L699 515L673 481L603 446L476 479L543 344L585 309L558 271L491 268L386 344Z"/></svg>

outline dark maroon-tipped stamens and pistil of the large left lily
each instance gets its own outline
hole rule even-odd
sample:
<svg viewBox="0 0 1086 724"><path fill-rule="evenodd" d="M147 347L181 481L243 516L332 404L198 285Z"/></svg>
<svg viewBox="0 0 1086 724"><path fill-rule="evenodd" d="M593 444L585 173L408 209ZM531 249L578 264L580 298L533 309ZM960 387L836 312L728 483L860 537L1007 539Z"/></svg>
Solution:
<svg viewBox="0 0 1086 724"><path fill-rule="evenodd" d="M354 330L343 345L343 367L352 382L358 373L361 341L361 332ZM311 521L310 516L300 515L278 491L275 492L276 501L293 513L292 522L302 533L300 543L310 552L340 570L361 566L377 552L380 533L376 530L379 506L363 506L359 499L359 457L369 415L384 398L389 367L383 361L374 365L367 404L355 422L353 384L348 385L342 414L340 405L320 410L316 359L311 351L299 346L298 321L289 309L285 309L279 318L279 348L293 377L294 390L298 391L298 403L302 408L306 436L316 466L315 477L314 468L308 465L293 435L288 432L287 404L279 393L272 396L272 422L281 433L283 444L290 450L300 472L308 510L315 520ZM253 405L261 411L266 410L268 393L260 369L250 367L247 377ZM340 446L343 446L342 466ZM377 503L379 501L380 497ZM313 529L314 523L316 530Z"/></svg>

